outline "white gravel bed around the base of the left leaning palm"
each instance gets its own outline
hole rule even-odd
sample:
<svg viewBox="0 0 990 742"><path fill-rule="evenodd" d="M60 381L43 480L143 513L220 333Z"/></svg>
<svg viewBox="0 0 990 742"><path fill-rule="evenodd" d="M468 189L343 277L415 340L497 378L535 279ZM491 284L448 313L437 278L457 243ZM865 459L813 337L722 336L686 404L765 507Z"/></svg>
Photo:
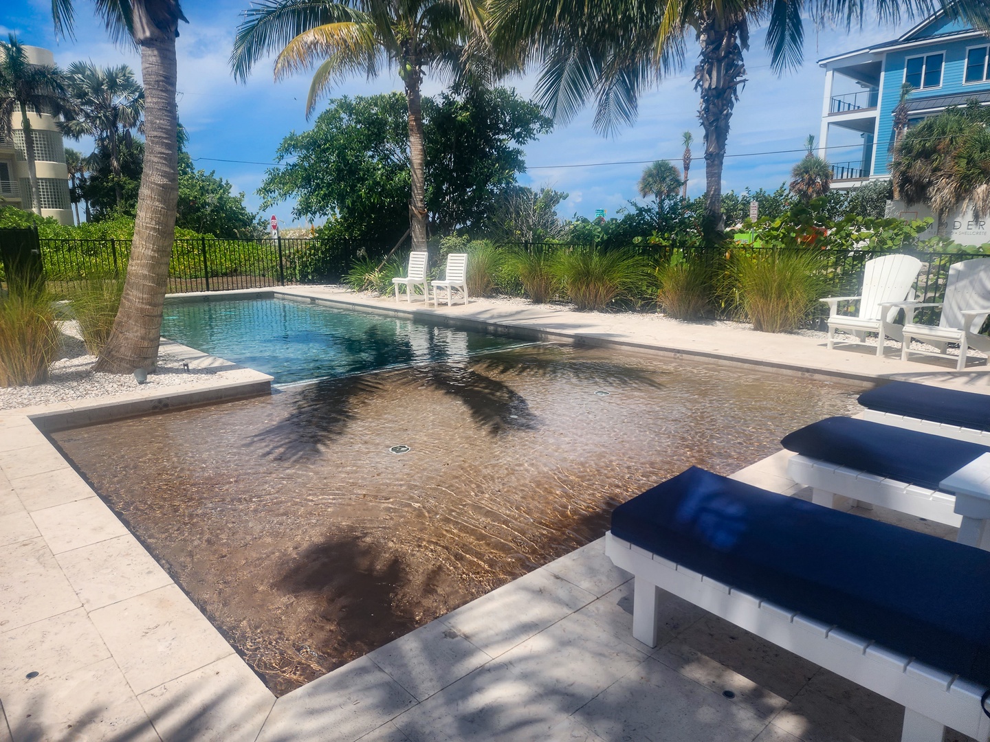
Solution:
<svg viewBox="0 0 990 742"><path fill-rule="evenodd" d="M186 370L182 367L184 358L162 354L158 356L156 372L148 375L145 384L138 384L131 375L98 374L93 371L96 356L86 352L78 325L74 322L59 325L62 332L61 354L59 360L49 367L49 381L35 387L0 388L0 410L107 397L138 389L176 387L217 373L217 369L213 368Z"/></svg>

